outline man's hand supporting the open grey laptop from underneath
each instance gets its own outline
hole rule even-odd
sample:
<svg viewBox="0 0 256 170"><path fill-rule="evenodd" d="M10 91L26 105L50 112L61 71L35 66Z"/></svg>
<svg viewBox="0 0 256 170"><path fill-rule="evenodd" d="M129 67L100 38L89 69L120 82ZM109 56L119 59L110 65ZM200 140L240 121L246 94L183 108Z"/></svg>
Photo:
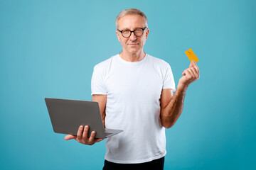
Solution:
<svg viewBox="0 0 256 170"><path fill-rule="evenodd" d="M89 131L89 126L85 126L83 128L82 125L78 128L78 134L75 135L66 135L65 140L77 140L78 142L85 144L85 145L94 145L96 142L100 142L103 139L95 139L96 132L92 131L90 137L88 138L88 131Z"/></svg>

